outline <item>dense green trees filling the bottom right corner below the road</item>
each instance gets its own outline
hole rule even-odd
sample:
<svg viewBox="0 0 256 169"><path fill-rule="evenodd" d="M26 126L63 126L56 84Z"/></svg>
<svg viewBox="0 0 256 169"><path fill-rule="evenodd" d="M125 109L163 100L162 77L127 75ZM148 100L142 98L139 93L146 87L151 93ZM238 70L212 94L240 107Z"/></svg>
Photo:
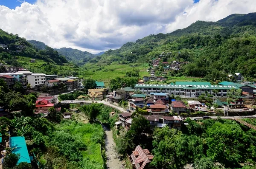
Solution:
<svg viewBox="0 0 256 169"><path fill-rule="evenodd" d="M186 163L214 168L213 162L225 167L240 168L239 163L255 163L256 132L231 120L187 119L183 131L168 127L154 130L152 165L174 169ZM217 167L217 166L215 166Z"/></svg>

